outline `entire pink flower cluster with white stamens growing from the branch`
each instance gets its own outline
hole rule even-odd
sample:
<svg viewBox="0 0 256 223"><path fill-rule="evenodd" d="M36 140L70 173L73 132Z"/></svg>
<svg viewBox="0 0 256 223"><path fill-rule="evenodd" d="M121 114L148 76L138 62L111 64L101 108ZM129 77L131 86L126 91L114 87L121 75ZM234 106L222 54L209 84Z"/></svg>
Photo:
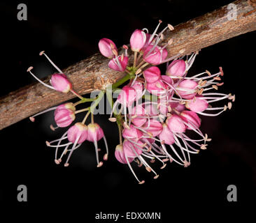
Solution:
<svg viewBox="0 0 256 223"><path fill-rule="evenodd" d="M201 118L199 116L218 116L227 109L232 108L235 96L231 93L218 93L218 88L223 82L222 68L219 72L211 74L208 70L197 75L188 76L198 52L183 56L185 49L178 54L169 56L166 47L173 40L162 44L164 34L173 31L173 26L168 24L158 32L162 23L159 20L157 28L152 33L148 29L136 29L130 38L130 49L127 45L118 47L108 38L99 40L99 51L109 59L108 67L119 72L127 72L127 75L112 85L112 90L118 90L118 98L109 100L112 107L109 121L117 123L119 130L119 144L115 148L115 157L122 164L127 164L139 184L140 180L132 165L134 162L139 167L145 167L148 172L158 178L157 172L150 164L155 161L162 163L161 169L168 162L176 162L183 167L190 166L190 155L204 150L211 141L207 134L200 130ZM128 52L132 52L131 55ZM106 91L101 91L97 98L83 98L73 91L71 82L44 53L45 57L57 69L53 74L50 84L38 79L30 67L27 71L38 82L55 91L73 93L80 100L78 102L66 102L63 105L53 107L38 113L55 110L56 126L51 125L52 130L66 128L76 119L76 114L86 112L83 121L77 122L54 141L46 141L46 145L56 149L55 162L62 162L62 157L69 152L64 164L69 166L69 159L73 151L80 147L85 140L94 143L97 167L103 162L99 160L99 148L97 142L104 139L106 153L103 160L108 159L108 145L101 127L94 123L94 108L99 104ZM166 71L163 73L157 66L166 63ZM125 84L126 83L126 84ZM122 85L122 89L119 86ZM112 91L111 91L112 93ZM217 106L215 102L229 100L227 105ZM84 102L93 102L90 107L77 110L76 106ZM217 103L219 104L219 103ZM30 117L35 121L35 117ZM91 114L91 123L85 125ZM191 135L193 137L191 137ZM64 148L58 156L59 148Z"/></svg>

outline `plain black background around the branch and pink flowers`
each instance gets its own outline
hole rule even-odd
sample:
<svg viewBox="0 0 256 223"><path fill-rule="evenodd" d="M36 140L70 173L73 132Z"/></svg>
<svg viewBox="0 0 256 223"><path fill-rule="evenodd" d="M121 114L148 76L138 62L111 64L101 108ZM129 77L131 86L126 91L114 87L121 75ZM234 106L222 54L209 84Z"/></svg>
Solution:
<svg viewBox="0 0 256 223"><path fill-rule="evenodd" d="M152 31L159 19L174 26L230 2L22 1L28 7L27 21L17 20L17 4L21 2L1 2L0 95L35 82L26 72L29 66L34 66L38 77L55 71L38 56L41 50L60 68L66 68L98 52L100 38L111 38L120 47L129 43L134 29L147 27ZM1 130L1 204L15 210L13 213L22 210L20 217L24 219L32 210L47 219L58 208L55 217L80 216L83 222L94 222L99 212L132 211L162 212L166 222L176 215L181 220L190 220L200 218L204 209L211 217L220 210L226 214L232 210L233 215L253 204L255 39L255 32L246 33L202 49L197 56L190 74L204 70L214 73L222 66L225 84L220 91L235 93L236 102L231 111L218 117L203 117L201 130L213 140L206 151L192 155L189 168L169 164L158 171L157 180L144 169L136 169L140 178L145 179L144 185L138 185L128 167L115 160L118 128L105 115L95 119L108 139L108 162L97 168L94 146L85 143L73 154L68 168L57 166L55 151L45 146L45 140L56 139L63 130L50 130L53 116L48 113L36 118L35 123L27 118ZM102 142L101 145L103 148ZM28 188L27 203L17 202L17 185L21 184ZM238 201L232 203L227 201L227 186L231 184L238 190Z"/></svg>

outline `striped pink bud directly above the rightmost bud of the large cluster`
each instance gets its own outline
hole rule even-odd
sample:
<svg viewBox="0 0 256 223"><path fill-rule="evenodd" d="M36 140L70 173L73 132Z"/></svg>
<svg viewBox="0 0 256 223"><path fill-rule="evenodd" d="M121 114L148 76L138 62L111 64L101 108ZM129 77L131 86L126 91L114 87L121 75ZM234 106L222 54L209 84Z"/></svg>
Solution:
<svg viewBox="0 0 256 223"><path fill-rule="evenodd" d="M194 98L195 95L197 95L197 91L196 91L197 86L198 86L197 82L194 82L191 79L185 79L182 82L180 82L180 84L178 84L179 88L182 88L185 90L178 90L178 93L182 98L192 99Z"/></svg>

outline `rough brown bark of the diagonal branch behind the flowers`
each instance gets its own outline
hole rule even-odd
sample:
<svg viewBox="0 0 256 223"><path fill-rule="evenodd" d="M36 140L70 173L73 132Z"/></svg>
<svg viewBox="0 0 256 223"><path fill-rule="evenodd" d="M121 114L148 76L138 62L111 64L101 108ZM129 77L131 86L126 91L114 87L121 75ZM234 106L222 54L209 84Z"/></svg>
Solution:
<svg viewBox="0 0 256 223"><path fill-rule="evenodd" d="M173 44L167 47L169 56L176 55L180 49L185 49L183 54L190 54L234 36L255 31L256 0L239 0L233 4L236 5L236 20L230 20L232 7L229 5L178 24L174 31L167 31L164 43L173 38ZM104 89L107 84L124 77L124 73L115 72L107 65L108 59L94 54L66 68L64 73L73 83L73 89L83 95L95 89ZM44 79L44 82L48 83L49 79ZM39 83L13 91L0 98L0 130L71 98L74 98L72 93L52 91Z"/></svg>

